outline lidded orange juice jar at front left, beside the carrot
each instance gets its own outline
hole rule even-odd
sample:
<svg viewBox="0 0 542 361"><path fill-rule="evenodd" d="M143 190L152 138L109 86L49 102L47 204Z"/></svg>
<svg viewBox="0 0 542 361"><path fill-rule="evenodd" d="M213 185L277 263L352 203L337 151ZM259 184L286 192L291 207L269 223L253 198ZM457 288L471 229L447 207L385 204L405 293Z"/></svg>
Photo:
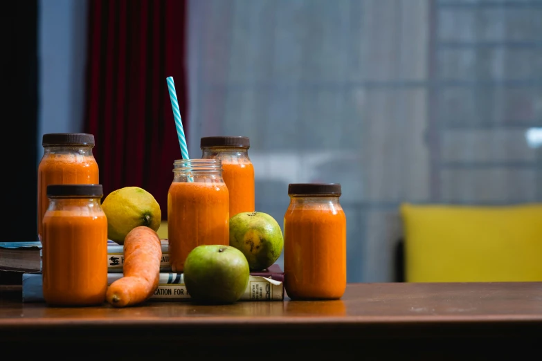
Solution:
<svg viewBox="0 0 542 361"><path fill-rule="evenodd" d="M48 185L42 275L47 304L91 306L107 291L107 218L102 185Z"/></svg>

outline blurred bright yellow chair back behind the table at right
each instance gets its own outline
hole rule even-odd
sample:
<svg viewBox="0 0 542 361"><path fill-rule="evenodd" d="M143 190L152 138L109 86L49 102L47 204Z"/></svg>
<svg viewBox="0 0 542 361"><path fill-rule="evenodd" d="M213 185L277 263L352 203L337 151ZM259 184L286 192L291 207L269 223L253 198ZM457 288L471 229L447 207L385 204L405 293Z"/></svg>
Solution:
<svg viewBox="0 0 542 361"><path fill-rule="evenodd" d="M542 203L400 211L404 281L542 281Z"/></svg>

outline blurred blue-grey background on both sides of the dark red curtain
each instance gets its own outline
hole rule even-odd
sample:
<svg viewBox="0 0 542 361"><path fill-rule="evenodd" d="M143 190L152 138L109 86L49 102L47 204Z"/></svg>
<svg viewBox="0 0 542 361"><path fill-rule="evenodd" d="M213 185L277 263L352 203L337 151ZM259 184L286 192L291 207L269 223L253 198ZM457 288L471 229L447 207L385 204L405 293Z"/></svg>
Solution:
<svg viewBox="0 0 542 361"><path fill-rule="evenodd" d="M348 281L393 279L402 201L542 201L542 1L187 9L190 155L201 136L249 136L256 208L281 224L288 183L341 183ZM36 164L43 133L84 127L86 11L39 1Z"/></svg>

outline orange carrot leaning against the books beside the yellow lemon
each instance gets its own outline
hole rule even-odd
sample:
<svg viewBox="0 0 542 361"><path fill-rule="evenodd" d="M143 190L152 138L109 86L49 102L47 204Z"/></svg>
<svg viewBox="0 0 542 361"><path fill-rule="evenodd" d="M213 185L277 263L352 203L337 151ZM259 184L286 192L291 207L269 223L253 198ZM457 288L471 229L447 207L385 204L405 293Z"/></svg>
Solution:
<svg viewBox="0 0 542 361"><path fill-rule="evenodd" d="M124 240L123 277L114 281L105 298L115 307L133 306L146 301L158 287L162 246L151 228L141 225Z"/></svg>

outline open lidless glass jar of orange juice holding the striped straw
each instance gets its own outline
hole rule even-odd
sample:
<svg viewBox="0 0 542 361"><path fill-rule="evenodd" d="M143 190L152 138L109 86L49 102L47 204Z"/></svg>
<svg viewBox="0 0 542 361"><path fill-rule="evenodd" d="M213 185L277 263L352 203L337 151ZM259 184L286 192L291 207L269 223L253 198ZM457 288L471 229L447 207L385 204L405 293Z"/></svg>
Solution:
<svg viewBox="0 0 542 361"><path fill-rule="evenodd" d="M197 246L229 245L229 193L219 159L174 161L168 241L173 272L183 272L188 253Z"/></svg>

